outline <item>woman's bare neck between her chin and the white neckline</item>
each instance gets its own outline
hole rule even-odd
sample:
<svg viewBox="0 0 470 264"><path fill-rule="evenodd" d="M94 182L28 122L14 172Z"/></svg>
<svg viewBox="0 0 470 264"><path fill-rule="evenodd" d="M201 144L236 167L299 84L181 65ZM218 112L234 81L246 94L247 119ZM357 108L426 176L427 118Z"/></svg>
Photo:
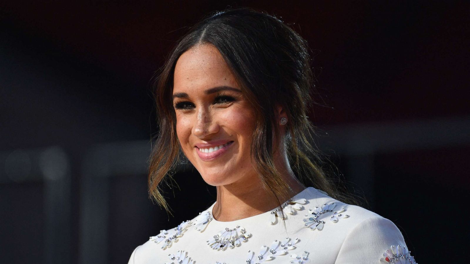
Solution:
<svg viewBox="0 0 470 264"><path fill-rule="evenodd" d="M291 191L288 197L279 197L281 202L305 189L293 173L284 175L284 180L290 186ZM212 215L218 221L229 222L255 216L277 206L274 195L269 190L265 190L261 180L255 176L242 182L217 186L217 202L212 209Z"/></svg>

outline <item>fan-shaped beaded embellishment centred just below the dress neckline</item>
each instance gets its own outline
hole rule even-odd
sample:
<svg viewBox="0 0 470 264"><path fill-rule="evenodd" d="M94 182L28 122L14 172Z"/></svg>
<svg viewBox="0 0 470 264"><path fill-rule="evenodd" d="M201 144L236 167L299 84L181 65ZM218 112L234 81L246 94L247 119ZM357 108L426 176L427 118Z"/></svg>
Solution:
<svg viewBox="0 0 470 264"><path fill-rule="evenodd" d="M214 236L214 239L206 241L212 249L225 250L228 247L239 247L242 242L248 241L251 233L247 233L243 227L238 225L234 229L226 228Z"/></svg>

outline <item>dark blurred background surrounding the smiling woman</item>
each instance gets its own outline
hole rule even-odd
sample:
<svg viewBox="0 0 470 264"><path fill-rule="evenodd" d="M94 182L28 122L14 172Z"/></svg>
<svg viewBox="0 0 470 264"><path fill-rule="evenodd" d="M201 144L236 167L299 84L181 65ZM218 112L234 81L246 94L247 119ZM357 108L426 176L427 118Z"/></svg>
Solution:
<svg viewBox="0 0 470 264"><path fill-rule="evenodd" d="M190 166L167 189L174 217L148 199L149 81L188 26L245 6L308 40L326 105L312 109L318 143L350 188L419 263L462 261L469 1L2 1L1 263L127 263L215 201Z"/></svg>

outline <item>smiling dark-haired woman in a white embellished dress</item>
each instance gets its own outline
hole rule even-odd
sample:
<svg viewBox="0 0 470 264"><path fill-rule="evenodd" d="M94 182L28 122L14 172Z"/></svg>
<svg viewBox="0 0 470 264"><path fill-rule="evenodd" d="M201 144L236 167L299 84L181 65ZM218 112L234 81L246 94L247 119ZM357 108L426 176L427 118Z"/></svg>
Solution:
<svg viewBox="0 0 470 264"><path fill-rule="evenodd" d="M191 28L156 84L149 190L167 209L157 187L182 151L217 201L129 263L415 263L390 220L344 203L322 171L312 82L305 40L273 16L232 9Z"/></svg>

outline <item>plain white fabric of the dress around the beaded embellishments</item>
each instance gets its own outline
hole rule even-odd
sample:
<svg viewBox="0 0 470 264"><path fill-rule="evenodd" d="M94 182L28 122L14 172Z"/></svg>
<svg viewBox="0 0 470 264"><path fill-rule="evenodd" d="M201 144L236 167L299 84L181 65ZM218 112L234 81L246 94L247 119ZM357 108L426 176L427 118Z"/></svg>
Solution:
<svg viewBox="0 0 470 264"><path fill-rule="evenodd" d="M247 217L232 222L219 222L213 219L209 222L205 230L201 233L190 226L178 241L172 243L170 248L162 249L164 241L155 243L147 241L141 246L135 248L129 264L160 264L160 263L178 263L177 260L171 260L169 255L178 254L178 250L184 250L187 259L195 264L246 264L248 251L255 252L252 264L259 262L258 252L263 245L268 249L274 240L282 241L286 237L291 241L299 239L295 244L295 249L287 250L288 254L284 256L274 256L266 263L303 263L309 264L366 264L366 263L386 263L380 262L385 250L390 249L392 245L406 246L403 236L399 229L388 219L377 215L374 212L361 208L359 206L348 205L338 202L323 192L308 187L292 198L296 200L305 198L307 202L302 204L303 209L294 210L294 215L287 215L284 227L282 221L277 218L277 223L271 225L271 211ZM321 206L325 203L336 203L334 211L345 208L343 214L349 215L347 218L339 218L336 223L330 221L333 213L326 213L321 220L325 221L321 231L310 230L305 227L303 221L305 215L311 217L309 209L315 206ZM207 209L212 211L212 207ZM205 211L207 211L205 210ZM205 212L203 211L203 213ZM213 236L226 228L233 229L237 225L242 226L251 237L246 242L235 248L226 248L225 250L215 250L207 245L206 241L213 239ZM155 235L155 234L154 234ZM278 250L279 251L279 250ZM307 260L298 260L291 258L290 255L296 254L302 256L307 251ZM266 256L271 255L269 250ZM185 263L185 262L183 262ZM403 262L407 263L407 262Z"/></svg>

